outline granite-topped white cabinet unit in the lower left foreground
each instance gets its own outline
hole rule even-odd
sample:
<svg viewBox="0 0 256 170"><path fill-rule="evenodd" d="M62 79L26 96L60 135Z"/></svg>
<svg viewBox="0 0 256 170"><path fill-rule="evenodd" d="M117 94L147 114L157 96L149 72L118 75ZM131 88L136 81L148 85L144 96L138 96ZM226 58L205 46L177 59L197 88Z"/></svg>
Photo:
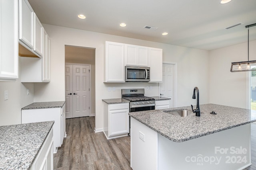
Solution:
<svg viewBox="0 0 256 170"><path fill-rule="evenodd" d="M54 121L0 126L0 169L53 168Z"/></svg>

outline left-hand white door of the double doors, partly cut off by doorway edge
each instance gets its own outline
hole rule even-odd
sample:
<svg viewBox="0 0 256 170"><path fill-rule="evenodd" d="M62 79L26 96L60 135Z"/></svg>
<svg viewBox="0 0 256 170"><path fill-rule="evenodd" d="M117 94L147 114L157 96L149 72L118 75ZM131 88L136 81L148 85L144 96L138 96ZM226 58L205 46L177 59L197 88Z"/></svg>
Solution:
<svg viewBox="0 0 256 170"><path fill-rule="evenodd" d="M73 65L65 65L66 119L73 117Z"/></svg>

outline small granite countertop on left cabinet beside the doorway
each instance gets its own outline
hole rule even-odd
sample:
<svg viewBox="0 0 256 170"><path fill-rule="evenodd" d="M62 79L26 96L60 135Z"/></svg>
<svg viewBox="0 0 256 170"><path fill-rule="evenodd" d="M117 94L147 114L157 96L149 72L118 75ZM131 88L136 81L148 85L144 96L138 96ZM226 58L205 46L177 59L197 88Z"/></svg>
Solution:
<svg viewBox="0 0 256 170"><path fill-rule="evenodd" d="M22 110L26 109L46 109L46 108L56 108L56 107L63 107L65 101L60 102L35 102L28 106L22 107Z"/></svg>

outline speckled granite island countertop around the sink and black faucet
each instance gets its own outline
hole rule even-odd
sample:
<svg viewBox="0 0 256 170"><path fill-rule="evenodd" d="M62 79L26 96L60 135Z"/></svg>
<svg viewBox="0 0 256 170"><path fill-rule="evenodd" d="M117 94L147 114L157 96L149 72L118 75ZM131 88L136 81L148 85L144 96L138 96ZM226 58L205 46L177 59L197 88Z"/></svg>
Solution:
<svg viewBox="0 0 256 170"><path fill-rule="evenodd" d="M256 121L256 113L250 109L216 104L200 105L200 117L178 117L164 112L180 109L192 111L191 106L186 106L131 112L129 115L174 142L188 141ZM217 114L210 114L212 111Z"/></svg>

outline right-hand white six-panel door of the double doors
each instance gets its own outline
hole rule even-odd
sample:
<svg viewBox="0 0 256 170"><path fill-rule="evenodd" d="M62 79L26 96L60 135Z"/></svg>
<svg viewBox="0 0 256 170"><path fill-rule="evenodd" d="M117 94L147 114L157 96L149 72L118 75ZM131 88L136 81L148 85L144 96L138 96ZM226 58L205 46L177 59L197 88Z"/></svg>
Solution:
<svg viewBox="0 0 256 170"><path fill-rule="evenodd" d="M73 65L73 117L90 114L90 74L88 65Z"/></svg>

